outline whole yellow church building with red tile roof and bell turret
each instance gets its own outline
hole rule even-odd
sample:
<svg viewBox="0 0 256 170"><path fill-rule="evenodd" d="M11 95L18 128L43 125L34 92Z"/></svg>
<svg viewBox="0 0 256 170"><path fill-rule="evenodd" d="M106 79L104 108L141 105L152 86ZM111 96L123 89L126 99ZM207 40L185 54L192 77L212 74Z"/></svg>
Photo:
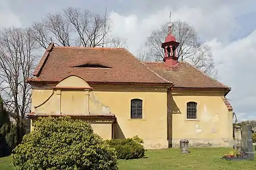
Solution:
<svg viewBox="0 0 256 170"><path fill-rule="evenodd" d="M147 149L179 147L184 138L191 146L233 146L233 111L225 97L231 88L178 62L178 46L170 32L163 62L143 62L125 48L49 44L27 79L32 103L26 117L79 118L103 139L138 135Z"/></svg>

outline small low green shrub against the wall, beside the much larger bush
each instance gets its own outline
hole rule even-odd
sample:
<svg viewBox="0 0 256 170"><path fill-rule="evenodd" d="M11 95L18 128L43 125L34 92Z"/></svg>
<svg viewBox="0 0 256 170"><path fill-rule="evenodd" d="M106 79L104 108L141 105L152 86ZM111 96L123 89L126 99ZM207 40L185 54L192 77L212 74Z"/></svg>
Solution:
<svg viewBox="0 0 256 170"><path fill-rule="evenodd" d="M106 141L110 147L115 148L118 159L138 159L144 156L142 139L138 137L128 139L111 139Z"/></svg>

